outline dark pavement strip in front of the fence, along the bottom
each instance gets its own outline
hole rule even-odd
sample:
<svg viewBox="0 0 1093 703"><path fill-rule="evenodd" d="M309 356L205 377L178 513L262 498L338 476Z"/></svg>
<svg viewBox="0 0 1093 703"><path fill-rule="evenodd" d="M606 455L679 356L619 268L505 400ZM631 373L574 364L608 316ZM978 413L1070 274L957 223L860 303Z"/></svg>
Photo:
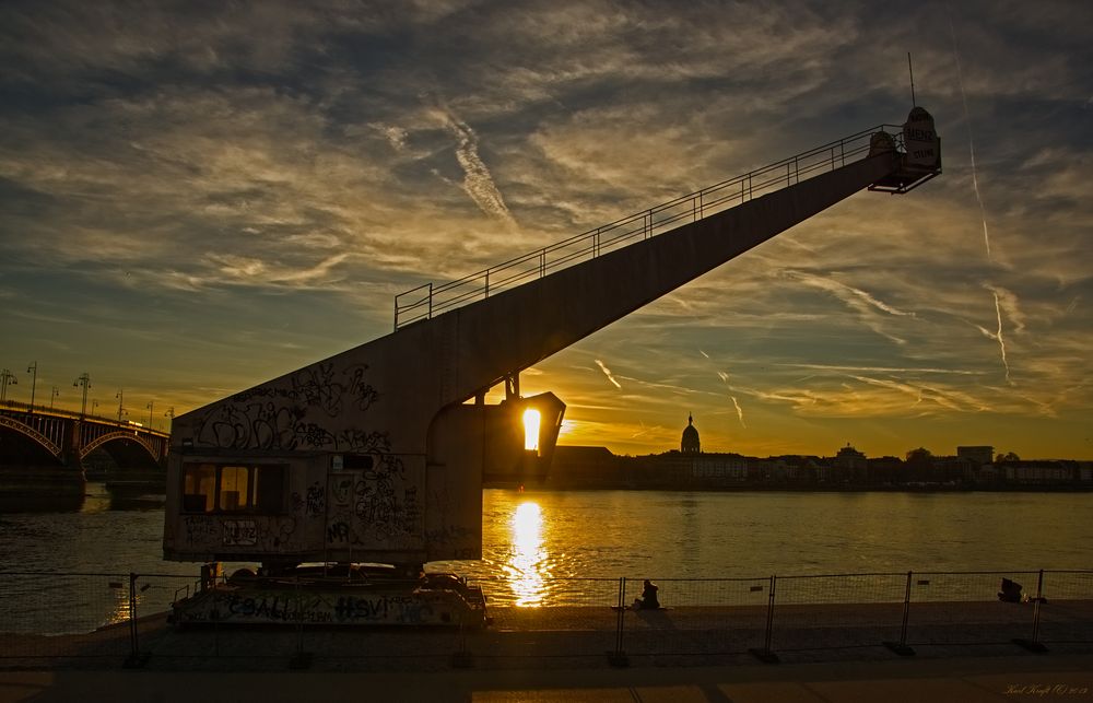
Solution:
<svg viewBox="0 0 1093 703"><path fill-rule="evenodd" d="M1093 654L440 671L0 671L0 703L1093 703Z"/></svg>

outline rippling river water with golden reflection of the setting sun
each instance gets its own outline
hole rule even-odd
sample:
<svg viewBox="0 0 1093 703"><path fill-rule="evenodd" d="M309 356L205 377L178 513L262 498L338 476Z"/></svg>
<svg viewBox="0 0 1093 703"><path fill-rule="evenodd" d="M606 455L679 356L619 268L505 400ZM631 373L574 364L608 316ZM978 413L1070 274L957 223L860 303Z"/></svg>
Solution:
<svg viewBox="0 0 1093 703"><path fill-rule="evenodd" d="M559 579L573 578L1093 569L1089 493L486 490L482 522L482 560L428 570L490 584L501 605L552 605ZM78 509L0 514L0 564L196 576L196 564L162 560L162 496L120 500L91 483ZM55 599L33 579L5 581L0 631L12 612L33 619ZM74 588L68 583L57 579L54 590ZM114 584L121 609L126 589Z"/></svg>

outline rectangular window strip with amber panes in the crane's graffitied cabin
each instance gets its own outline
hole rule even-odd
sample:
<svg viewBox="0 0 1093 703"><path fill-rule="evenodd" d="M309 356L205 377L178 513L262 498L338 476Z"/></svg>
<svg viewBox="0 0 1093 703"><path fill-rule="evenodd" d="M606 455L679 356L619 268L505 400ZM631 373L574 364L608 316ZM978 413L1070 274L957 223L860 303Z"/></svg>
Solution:
<svg viewBox="0 0 1093 703"><path fill-rule="evenodd" d="M285 467L187 464L183 470L184 513L284 512Z"/></svg>

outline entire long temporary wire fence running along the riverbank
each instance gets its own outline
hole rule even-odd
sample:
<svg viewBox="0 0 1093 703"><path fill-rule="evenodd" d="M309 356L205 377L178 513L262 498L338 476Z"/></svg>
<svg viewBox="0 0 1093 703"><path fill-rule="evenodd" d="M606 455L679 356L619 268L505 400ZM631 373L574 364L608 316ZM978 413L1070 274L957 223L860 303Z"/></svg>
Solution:
<svg viewBox="0 0 1093 703"><path fill-rule="evenodd" d="M1016 584L1009 594L1003 579ZM662 578L655 579L658 609L637 607L643 581L544 577L521 590L513 581L480 579L486 626L305 625L293 617L294 608L303 613L297 591L277 606L270 620L279 624L179 630L166 613L196 593L195 576L0 572L0 667L420 670L1093 644L1093 571Z"/></svg>

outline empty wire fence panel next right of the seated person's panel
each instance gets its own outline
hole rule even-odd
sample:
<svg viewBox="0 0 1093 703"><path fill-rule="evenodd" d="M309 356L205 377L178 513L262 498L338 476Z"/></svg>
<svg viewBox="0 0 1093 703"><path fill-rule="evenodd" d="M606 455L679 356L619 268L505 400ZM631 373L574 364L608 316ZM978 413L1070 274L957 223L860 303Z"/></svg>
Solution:
<svg viewBox="0 0 1093 703"><path fill-rule="evenodd" d="M897 642L907 574L778 576L771 649L797 652Z"/></svg>

